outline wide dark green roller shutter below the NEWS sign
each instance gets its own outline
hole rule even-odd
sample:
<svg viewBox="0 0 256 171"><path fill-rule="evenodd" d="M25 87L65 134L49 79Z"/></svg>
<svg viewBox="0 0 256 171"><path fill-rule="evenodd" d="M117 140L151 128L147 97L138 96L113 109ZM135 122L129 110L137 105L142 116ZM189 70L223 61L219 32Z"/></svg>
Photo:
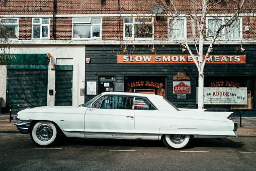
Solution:
<svg viewBox="0 0 256 171"><path fill-rule="evenodd" d="M47 106L48 70L8 70L7 104L26 107ZM20 109L21 110L21 109ZM15 108L13 112L18 112Z"/></svg>

